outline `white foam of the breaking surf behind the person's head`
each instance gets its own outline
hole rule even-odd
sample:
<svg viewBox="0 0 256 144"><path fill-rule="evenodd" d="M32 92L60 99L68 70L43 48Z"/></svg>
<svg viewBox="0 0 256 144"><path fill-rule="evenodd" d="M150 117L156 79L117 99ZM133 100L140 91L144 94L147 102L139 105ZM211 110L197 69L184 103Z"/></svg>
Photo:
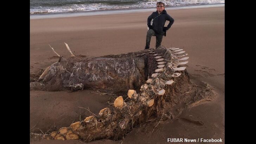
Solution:
<svg viewBox="0 0 256 144"><path fill-rule="evenodd" d="M85 3L85 4L66 4L63 6L31 6L30 14L35 13L61 13L61 12L83 12L83 11L101 11L129 8L152 8L156 6L159 0L139 1L133 4L126 4L120 0L118 5L103 3ZM220 4L225 3L225 0L161 0L167 7L186 6L186 5L201 5L201 4Z"/></svg>

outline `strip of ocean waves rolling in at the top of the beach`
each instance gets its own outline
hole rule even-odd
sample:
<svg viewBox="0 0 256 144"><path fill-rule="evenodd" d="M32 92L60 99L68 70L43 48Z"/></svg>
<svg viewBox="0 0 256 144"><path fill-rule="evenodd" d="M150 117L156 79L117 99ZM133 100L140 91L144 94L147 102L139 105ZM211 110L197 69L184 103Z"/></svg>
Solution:
<svg viewBox="0 0 256 144"><path fill-rule="evenodd" d="M39 0L32 2L30 14L61 13L61 12L83 12L115 10L127 8L152 8L159 0ZM30 1L30 2L31 2ZM52 2L51 4L47 2ZM58 3L59 2L59 3ZM220 4L225 0L162 0L166 7L201 5L201 4ZM58 3L58 4L57 4Z"/></svg>

